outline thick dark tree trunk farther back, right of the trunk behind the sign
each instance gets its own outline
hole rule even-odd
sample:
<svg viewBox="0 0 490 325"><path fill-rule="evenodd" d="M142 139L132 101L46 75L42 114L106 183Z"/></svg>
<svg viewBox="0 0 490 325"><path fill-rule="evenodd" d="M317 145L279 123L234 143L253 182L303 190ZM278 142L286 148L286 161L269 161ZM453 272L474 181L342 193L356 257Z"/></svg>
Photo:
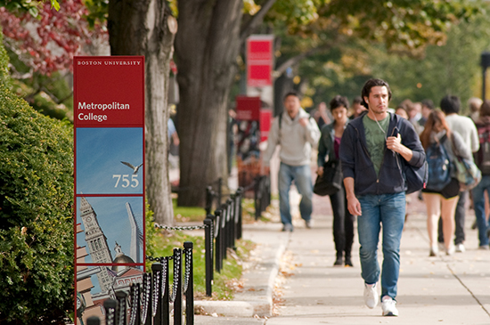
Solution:
<svg viewBox="0 0 490 325"><path fill-rule="evenodd" d="M227 183L227 105L240 49L242 0L178 2L179 206L203 206L207 185Z"/></svg>

